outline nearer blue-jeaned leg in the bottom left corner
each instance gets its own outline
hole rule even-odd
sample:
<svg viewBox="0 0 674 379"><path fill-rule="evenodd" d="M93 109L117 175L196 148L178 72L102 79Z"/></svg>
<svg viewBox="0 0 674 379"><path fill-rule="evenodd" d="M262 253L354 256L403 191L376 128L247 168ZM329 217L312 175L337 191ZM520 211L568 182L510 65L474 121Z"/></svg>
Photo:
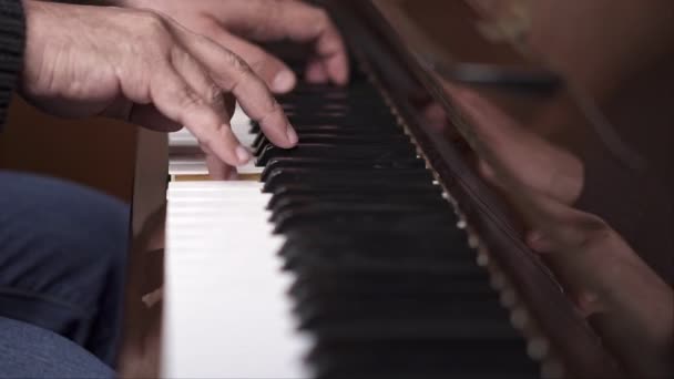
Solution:
<svg viewBox="0 0 674 379"><path fill-rule="evenodd" d="M0 317L0 377L112 379L115 375L71 340Z"/></svg>

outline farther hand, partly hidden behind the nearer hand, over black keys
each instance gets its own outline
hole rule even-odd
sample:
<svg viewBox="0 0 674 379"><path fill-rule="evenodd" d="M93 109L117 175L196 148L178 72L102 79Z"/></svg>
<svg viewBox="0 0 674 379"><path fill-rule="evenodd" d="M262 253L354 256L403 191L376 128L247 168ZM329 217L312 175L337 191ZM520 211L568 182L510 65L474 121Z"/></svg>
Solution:
<svg viewBox="0 0 674 379"><path fill-rule="evenodd" d="M152 9L242 57L276 93L290 91L295 73L246 40L313 43L309 82L346 84L349 63L344 41L327 13L295 0L116 0L130 8Z"/></svg>

